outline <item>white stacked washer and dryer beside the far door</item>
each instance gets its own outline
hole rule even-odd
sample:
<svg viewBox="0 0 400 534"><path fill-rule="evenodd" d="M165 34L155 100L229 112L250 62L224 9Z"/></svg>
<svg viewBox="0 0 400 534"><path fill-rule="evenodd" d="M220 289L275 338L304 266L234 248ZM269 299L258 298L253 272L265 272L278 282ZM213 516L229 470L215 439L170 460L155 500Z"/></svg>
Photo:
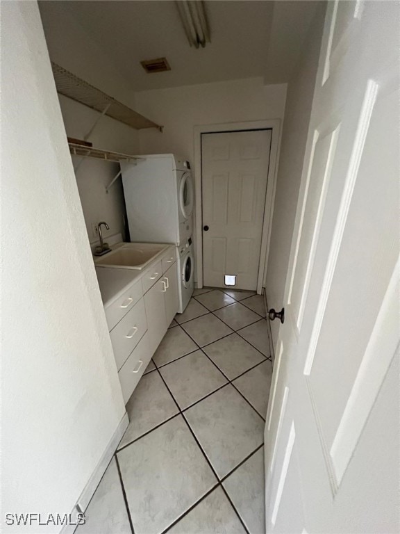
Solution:
<svg viewBox="0 0 400 534"><path fill-rule="evenodd" d="M179 312L183 313L194 286L190 164L174 154L143 158L136 165L121 165L131 241L176 245Z"/></svg>

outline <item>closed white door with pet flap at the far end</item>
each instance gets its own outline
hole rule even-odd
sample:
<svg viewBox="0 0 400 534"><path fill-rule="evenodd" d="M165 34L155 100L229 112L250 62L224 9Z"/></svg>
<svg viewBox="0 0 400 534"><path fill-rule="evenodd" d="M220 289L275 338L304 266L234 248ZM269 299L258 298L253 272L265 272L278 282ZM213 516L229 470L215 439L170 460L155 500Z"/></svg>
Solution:
<svg viewBox="0 0 400 534"><path fill-rule="evenodd" d="M256 290L271 130L203 133L203 284Z"/></svg>

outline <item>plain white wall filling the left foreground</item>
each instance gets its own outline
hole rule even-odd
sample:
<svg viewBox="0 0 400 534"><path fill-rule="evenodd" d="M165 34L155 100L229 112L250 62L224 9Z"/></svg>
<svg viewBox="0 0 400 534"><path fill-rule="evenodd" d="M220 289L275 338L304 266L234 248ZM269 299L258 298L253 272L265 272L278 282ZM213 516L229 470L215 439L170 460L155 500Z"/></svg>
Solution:
<svg viewBox="0 0 400 534"><path fill-rule="evenodd" d="M125 408L38 6L1 8L2 512L69 513Z"/></svg>

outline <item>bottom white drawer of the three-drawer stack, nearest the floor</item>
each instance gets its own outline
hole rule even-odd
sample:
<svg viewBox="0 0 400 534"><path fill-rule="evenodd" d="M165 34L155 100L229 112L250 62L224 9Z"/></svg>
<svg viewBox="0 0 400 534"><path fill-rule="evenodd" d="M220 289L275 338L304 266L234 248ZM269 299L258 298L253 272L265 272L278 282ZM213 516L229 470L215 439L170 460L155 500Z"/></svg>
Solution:
<svg viewBox="0 0 400 534"><path fill-rule="evenodd" d="M144 369L150 362L151 355L149 333L146 332L118 373L125 404L133 394L136 385L138 385Z"/></svg>

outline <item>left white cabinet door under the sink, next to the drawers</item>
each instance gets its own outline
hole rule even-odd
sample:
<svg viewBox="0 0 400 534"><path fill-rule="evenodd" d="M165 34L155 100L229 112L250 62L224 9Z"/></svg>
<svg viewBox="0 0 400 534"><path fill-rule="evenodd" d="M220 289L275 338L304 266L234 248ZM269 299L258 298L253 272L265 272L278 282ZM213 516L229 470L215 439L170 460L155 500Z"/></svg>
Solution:
<svg viewBox="0 0 400 534"><path fill-rule="evenodd" d="M149 343L151 351L154 352L165 332L167 332L167 318L165 316L165 282L158 280L144 295L144 307L147 316L147 331L149 332ZM169 321L170 322L170 321Z"/></svg>

